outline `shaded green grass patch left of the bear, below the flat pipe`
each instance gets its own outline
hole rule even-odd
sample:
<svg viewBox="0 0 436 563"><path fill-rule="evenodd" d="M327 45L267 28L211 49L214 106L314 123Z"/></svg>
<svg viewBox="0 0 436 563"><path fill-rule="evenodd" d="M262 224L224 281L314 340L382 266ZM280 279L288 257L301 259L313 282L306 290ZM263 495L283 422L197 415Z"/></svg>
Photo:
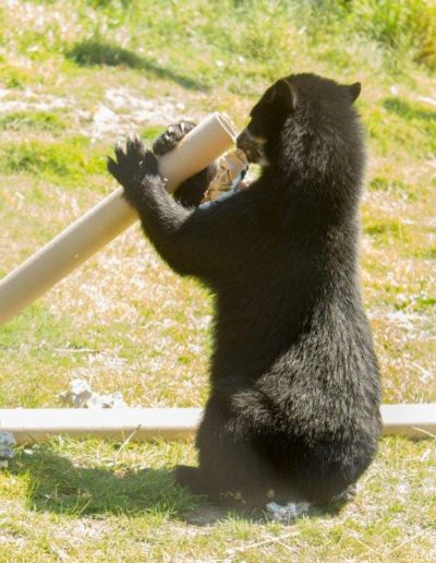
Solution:
<svg viewBox="0 0 436 563"><path fill-rule="evenodd" d="M96 444L97 445L97 444ZM112 459L117 458L113 447ZM101 467L92 463L77 466L49 446L32 456L21 451L11 465L12 475L32 482L28 504L36 511L65 515L141 514L147 508L173 513L193 506L190 495L175 487L168 468L134 470L122 466Z"/></svg>

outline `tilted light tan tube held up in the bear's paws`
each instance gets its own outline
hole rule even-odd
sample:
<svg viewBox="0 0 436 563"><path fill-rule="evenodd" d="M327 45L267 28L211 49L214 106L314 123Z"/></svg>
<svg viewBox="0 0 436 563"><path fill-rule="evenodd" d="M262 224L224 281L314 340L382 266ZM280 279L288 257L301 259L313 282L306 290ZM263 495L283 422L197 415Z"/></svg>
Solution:
<svg viewBox="0 0 436 563"><path fill-rule="evenodd" d="M235 131L222 116L207 117L174 151L159 159L159 170L167 178L168 191L172 193L183 180L218 158L234 139ZM0 325L137 219L122 193L122 188L116 190L0 280Z"/></svg>

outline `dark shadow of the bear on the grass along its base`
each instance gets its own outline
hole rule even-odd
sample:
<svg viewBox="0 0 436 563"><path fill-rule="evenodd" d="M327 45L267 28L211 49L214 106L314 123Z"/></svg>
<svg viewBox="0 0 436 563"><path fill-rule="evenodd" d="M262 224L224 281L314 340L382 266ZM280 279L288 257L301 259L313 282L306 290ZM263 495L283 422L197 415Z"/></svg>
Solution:
<svg viewBox="0 0 436 563"><path fill-rule="evenodd" d="M40 445L32 451L19 451L10 472L26 476L28 503L34 511L87 516L144 512L177 516L187 524L207 526L238 514L249 522L266 522L261 511L240 512L213 506L201 496L192 496L177 486L170 468L121 470L110 467L82 467ZM344 503L317 507L316 516L338 514Z"/></svg>

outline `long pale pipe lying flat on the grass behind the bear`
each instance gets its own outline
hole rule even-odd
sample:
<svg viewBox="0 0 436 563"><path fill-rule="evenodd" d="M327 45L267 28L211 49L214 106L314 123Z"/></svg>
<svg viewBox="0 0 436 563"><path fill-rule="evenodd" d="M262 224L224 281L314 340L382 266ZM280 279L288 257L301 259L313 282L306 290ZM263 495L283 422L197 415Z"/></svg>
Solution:
<svg viewBox="0 0 436 563"><path fill-rule="evenodd" d="M58 434L118 441L186 439L198 428L202 414L201 408L0 409L0 431L12 432L19 444ZM383 405L382 416L385 435L436 438L436 403Z"/></svg>

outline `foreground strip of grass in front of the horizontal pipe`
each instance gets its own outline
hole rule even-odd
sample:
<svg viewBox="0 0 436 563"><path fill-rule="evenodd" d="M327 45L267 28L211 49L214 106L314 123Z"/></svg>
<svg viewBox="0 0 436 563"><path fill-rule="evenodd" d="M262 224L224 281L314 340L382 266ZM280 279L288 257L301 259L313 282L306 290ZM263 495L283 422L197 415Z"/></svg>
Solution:
<svg viewBox="0 0 436 563"><path fill-rule="evenodd" d="M192 459L181 442L120 450L56 440L21 451L0 483L2 537L14 561L59 553L73 561L431 561L436 457L428 442L386 439L354 503L292 527L237 514L187 524L204 503L177 489L168 467Z"/></svg>

